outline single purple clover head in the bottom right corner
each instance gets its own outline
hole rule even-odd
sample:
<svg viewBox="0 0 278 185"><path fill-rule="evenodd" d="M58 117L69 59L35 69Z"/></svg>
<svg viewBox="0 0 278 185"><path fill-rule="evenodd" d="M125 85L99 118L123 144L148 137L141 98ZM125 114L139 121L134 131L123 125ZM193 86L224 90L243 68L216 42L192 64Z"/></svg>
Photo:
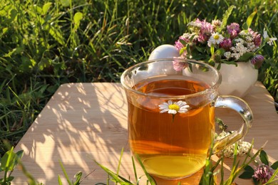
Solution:
<svg viewBox="0 0 278 185"><path fill-rule="evenodd" d="M264 184L267 183L267 181L270 179L270 177L272 177L272 175L273 169L267 166L266 164L262 164L255 169L254 175L252 177Z"/></svg>

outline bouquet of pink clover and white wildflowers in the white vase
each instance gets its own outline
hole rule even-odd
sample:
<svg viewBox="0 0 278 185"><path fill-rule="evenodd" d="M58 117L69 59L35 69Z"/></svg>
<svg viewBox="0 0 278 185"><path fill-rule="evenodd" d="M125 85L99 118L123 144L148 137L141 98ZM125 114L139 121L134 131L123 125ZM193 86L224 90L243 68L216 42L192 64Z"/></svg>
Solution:
<svg viewBox="0 0 278 185"><path fill-rule="evenodd" d="M203 60L212 66L215 66L215 63L237 65L240 61L250 61L255 68L259 68L264 56L257 53L265 43L272 45L277 38L269 38L264 30L263 40L260 33L249 28L256 12L247 18L242 29L238 23L227 25L233 8L234 6L231 6L227 9L222 21L214 20L210 23L197 18L188 23L189 32L184 33L175 42L180 57ZM220 68L220 65L217 68Z"/></svg>

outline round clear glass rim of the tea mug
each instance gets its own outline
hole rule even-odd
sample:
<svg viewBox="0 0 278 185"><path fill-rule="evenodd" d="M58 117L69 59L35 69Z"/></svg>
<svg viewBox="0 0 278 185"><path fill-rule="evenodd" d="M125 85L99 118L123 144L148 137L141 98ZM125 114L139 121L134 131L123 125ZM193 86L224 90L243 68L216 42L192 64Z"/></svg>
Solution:
<svg viewBox="0 0 278 185"><path fill-rule="evenodd" d="M216 83L214 85L212 85L210 88L206 88L205 90L202 90L202 91L197 92L197 93L192 93L190 95L149 95L148 93L142 93L138 90L135 90L132 87L129 87L129 85L127 85L125 83L125 76L127 75L127 73L129 71L131 71L135 68L138 68L138 66L140 66L140 65L145 65L145 64L148 64L148 63L155 63L155 62L158 62L158 61L165 61L165 60L169 60L169 62L173 62L173 60L180 60L180 61L185 61L186 60L190 63L195 63L195 64L197 63L199 65L205 65L207 68L210 68L210 70L215 71L215 73L217 74L218 79L216 80ZM139 95L144 95L144 96L148 96L148 97L165 98L165 99L169 99L169 100L172 100L172 99L178 100L178 99L185 99L186 97L195 97L195 96L199 96L199 95L205 95L207 93L212 92L212 90L217 89L219 87L221 81L222 81L221 73L217 69L212 67L211 65L202 62L202 60L191 60L191 59L182 59L182 58L158 58L158 59L154 59L154 60L147 60L145 62L137 63L137 64L127 68L123 72L123 74L120 76L120 83L123 85L123 87L126 90L130 90L133 93L136 93L136 94L139 94Z"/></svg>

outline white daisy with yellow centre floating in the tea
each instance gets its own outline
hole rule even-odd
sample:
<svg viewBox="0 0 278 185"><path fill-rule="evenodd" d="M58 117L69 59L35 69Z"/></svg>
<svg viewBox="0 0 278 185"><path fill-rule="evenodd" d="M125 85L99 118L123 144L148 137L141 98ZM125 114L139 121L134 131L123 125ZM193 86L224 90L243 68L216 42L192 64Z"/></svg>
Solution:
<svg viewBox="0 0 278 185"><path fill-rule="evenodd" d="M168 114L175 115L177 112L187 112L189 105L187 105L187 102L184 101L178 101L173 102L172 100L169 100L168 102L163 102L163 104L158 105L160 108L160 113L168 112Z"/></svg>

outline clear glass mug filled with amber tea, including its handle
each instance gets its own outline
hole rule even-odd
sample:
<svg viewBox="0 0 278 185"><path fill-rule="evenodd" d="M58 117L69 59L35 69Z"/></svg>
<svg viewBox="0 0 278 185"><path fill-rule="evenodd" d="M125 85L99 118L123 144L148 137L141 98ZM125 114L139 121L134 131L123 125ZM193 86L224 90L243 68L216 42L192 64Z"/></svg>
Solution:
<svg viewBox="0 0 278 185"><path fill-rule="evenodd" d="M237 142L252 125L244 100L217 93L221 75L195 60L157 59L125 70L121 83L128 100L128 140L150 175L182 179L202 169L213 152ZM244 123L215 139L215 107L237 111ZM220 117L221 118L221 117Z"/></svg>

